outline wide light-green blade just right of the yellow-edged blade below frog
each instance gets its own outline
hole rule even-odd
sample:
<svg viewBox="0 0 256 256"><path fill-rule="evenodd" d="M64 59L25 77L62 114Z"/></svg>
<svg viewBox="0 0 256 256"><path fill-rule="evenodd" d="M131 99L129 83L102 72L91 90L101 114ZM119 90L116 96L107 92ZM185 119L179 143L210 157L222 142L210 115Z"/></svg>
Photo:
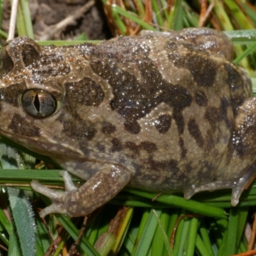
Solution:
<svg viewBox="0 0 256 256"><path fill-rule="evenodd" d="M161 210L156 210L157 215L161 214ZM145 218L147 216L147 218ZM152 239L156 232L157 220L154 216L153 209L150 212L145 211L145 215L143 214L140 229L138 232L138 236L136 237L136 243L138 246L134 246L134 250L132 251L132 256L144 256L148 255L147 253L150 250L150 244L152 243Z"/></svg>

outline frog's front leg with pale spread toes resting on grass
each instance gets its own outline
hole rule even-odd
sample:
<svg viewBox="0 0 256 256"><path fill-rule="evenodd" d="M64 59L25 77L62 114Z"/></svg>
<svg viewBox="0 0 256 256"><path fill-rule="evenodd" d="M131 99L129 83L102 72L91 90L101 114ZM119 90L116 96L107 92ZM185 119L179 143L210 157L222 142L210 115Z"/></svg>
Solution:
<svg viewBox="0 0 256 256"><path fill-rule="evenodd" d="M98 207L106 204L131 180L131 172L123 166L109 164L108 169L101 170L83 186L76 188L67 172L61 172L65 181L65 192L49 189L37 180L31 187L38 193L48 196L52 204L40 212L40 217L58 212L70 217L86 216Z"/></svg>

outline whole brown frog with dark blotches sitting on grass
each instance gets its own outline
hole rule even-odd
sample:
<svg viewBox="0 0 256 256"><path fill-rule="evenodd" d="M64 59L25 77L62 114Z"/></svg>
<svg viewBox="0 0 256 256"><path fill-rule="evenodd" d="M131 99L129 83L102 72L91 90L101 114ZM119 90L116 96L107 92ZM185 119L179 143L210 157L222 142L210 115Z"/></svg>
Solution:
<svg viewBox="0 0 256 256"><path fill-rule="evenodd" d="M210 28L6 42L0 134L63 168L65 191L31 182L52 201L40 216L87 216L125 186L186 199L231 188L237 205L256 174L256 99L232 60L230 39Z"/></svg>

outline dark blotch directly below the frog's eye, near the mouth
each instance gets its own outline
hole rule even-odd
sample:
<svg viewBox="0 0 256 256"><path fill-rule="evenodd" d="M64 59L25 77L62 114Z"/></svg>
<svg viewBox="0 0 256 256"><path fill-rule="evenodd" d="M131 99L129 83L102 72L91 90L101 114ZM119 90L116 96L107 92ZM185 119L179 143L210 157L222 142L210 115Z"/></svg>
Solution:
<svg viewBox="0 0 256 256"><path fill-rule="evenodd" d="M26 122L26 119L18 114L13 115L12 122L8 126L8 129L10 129L13 134L19 134L29 138L40 137L40 129Z"/></svg>

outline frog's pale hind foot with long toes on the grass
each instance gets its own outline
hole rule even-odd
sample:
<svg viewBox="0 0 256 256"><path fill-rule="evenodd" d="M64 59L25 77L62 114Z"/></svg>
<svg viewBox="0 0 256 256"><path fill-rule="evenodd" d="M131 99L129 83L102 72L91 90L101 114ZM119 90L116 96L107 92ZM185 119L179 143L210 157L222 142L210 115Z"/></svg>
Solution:
<svg viewBox="0 0 256 256"><path fill-rule="evenodd" d="M255 167L252 172L245 173L242 177L234 180L216 180L208 184L199 186L197 188L189 188L184 191L184 198L190 199L195 193L200 191L213 191L216 189L232 189L231 204L236 206L239 203L239 198L244 189L250 186L251 182L255 179Z"/></svg>

